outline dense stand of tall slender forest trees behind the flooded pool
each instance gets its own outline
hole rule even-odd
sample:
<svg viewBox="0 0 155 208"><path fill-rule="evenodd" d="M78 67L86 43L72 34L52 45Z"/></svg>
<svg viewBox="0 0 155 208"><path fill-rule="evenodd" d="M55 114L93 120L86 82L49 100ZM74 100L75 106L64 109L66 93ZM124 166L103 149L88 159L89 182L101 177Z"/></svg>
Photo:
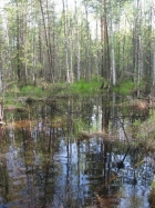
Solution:
<svg viewBox="0 0 155 208"><path fill-rule="evenodd" d="M155 85L152 0L10 0L0 10L0 70L28 85L103 77Z"/></svg>

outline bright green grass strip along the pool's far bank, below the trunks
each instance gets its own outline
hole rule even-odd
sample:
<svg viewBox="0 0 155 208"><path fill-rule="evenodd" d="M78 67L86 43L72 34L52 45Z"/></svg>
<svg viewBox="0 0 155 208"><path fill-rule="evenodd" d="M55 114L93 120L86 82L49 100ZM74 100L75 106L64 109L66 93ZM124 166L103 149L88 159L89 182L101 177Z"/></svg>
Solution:
<svg viewBox="0 0 155 208"><path fill-rule="evenodd" d="M94 78L91 81L82 79L80 81L74 81L71 85L68 85L66 82L54 85L38 80L38 83L35 85L30 83L22 86L12 82L12 85L8 86L9 87L4 89L4 101L7 105L12 103L13 99L17 101L17 98L19 97L46 98L52 96L94 96L106 92L108 83L103 78ZM112 87L111 91L127 96L131 95L135 88L135 83L128 80L116 87Z"/></svg>

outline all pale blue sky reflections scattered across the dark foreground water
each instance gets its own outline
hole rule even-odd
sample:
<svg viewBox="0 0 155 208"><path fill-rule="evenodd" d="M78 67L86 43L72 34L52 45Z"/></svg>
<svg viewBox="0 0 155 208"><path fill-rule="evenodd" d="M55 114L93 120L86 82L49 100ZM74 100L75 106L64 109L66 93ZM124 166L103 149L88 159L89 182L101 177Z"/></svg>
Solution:
<svg viewBox="0 0 155 208"><path fill-rule="evenodd" d="M95 122L95 119L94 119ZM42 125L40 125L42 129ZM41 132L40 128L35 128L32 132L32 138L35 142L35 146L38 147L38 141ZM49 129L46 129L46 135L49 135ZM13 131L10 131L10 139L12 139L12 143L10 146L10 150L7 153L8 159L8 170L9 176L11 178L16 178L14 186L18 186L20 184L20 177L25 176L25 167L23 165L24 158L23 155L19 157L19 152L21 149L14 148L13 140L14 133ZM99 180L99 177L104 176L104 143L102 138L92 138L87 141L81 141L79 145L76 141L70 142L71 138L58 136L56 141L59 142L59 148L56 148L56 152L53 150L54 155L51 153L51 160L53 161L52 169L50 169L53 175L51 176L51 180L53 181L54 186L51 186L51 196L53 197L53 205L55 208L58 208L61 205L65 205L66 200L69 198L72 199L72 201L76 201L80 206L83 206L85 204L85 200L94 200L94 186L101 186L101 182ZM20 146L22 148L22 146ZM107 152L106 153L106 162L111 164L111 171L116 172L117 168L113 167L113 164L115 161L122 160L124 157L124 152L117 152L115 151ZM39 151L38 151L39 152ZM33 168L35 170L37 167L42 167L43 162L41 160L41 157L35 152L35 156L33 158ZM130 179L133 178L134 169L132 167L131 162L131 156L127 155L125 160L125 168L121 169L118 171L120 178L122 178L121 182L114 182L114 186L117 187L118 195L121 195L121 202L120 208L124 208L124 206L132 206L135 205L136 201L140 201L141 196L144 195L145 197L143 200L141 200L142 206L141 208L147 208L147 191L145 189L148 189L151 180L145 184L145 180L148 180L148 178L152 178L152 170L148 168L147 159L145 160L145 164L141 166L141 168L137 169L136 177L141 179L136 186L133 186L130 184ZM23 169L22 169L23 168ZM105 166L106 171L108 169L108 165ZM29 167L28 167L29 169ZM31 169L31 167L30 167ZM94 170L101 170L99 174L94 174ZM29 176L32 181L32 190L35 190L35 197L40 194L39 189L41 189L42 195L45 190L45 180L43 177L45 177L45 172L43 172L42 168L40 168L40 171L34 171ZM18 178L19 177L19 178ZM35 180L37 177L41 177L42 180L35 184L33 180ZM90 179L92 178L92 179ZM23 180L23 178L22 178ZM25 184L27 178L24 178ZM40 184L41 182L41 184ZM43 188L44 187L44 188ZM29 188L29 187L28 187ZM25 191L25 196L28 196L27 190L23 188L22 191ZM136 201L134 201L136 200ZM125 207L127 208L127 207Z"/></svg>

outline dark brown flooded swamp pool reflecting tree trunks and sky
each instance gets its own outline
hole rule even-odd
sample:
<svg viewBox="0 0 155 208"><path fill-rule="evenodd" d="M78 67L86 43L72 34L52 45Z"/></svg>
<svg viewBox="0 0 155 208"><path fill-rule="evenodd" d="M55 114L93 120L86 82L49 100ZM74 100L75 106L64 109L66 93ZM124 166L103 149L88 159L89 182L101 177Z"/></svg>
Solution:
<svg viewBox="0 0 155 208"><path fill-rule="evenodd" d="M6 111L0 208L148 208L152 159L131 146L131 110L108 99Z"/></svg>

